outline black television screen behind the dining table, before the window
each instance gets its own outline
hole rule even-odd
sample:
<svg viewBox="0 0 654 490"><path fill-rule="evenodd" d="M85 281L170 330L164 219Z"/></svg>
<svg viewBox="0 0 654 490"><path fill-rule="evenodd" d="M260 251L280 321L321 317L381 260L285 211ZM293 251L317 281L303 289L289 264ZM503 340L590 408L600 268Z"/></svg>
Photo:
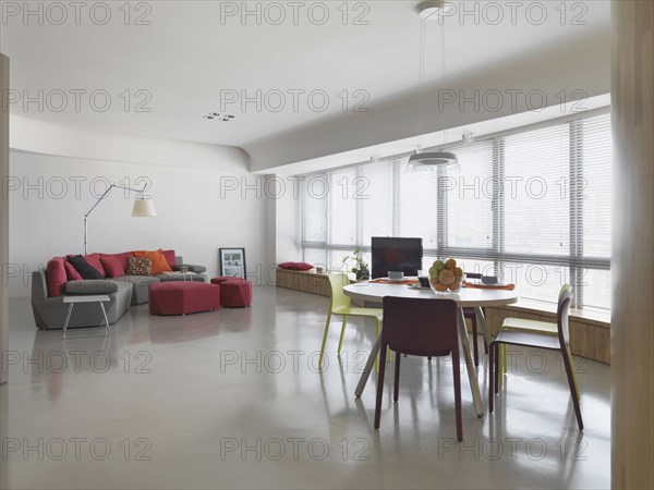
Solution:
<svg viewBox="0 0 654 490"><path fill-rule="evenodd" d="M386 278L389 270L417 275L422 269L422 238L373 236L373 279Z"/></svg>

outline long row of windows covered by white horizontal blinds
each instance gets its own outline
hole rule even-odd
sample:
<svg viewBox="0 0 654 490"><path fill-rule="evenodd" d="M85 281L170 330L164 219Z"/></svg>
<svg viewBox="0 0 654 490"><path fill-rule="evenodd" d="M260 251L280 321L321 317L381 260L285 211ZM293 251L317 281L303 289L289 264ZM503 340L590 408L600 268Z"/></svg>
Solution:
<svg viewBox="0 0 654 490"><path fill-rule="evenodd" d="M521 297L555 302L570 283L576 307L609 308L608 110L453 150L456 175L408 173L405 157L304 175L304 259L338 269L372 236L419 236L423 267L456 257Z"/></svg>

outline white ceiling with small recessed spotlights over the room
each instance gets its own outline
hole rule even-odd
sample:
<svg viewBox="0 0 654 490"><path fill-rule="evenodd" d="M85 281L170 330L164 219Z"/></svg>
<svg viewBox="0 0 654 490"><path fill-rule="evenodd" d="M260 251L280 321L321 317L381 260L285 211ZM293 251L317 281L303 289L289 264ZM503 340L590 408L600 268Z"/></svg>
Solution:
<svg viewBox="0 0 654 490"><path fill-rule="evenodd" d="M258 168L266 167L262 162L262 148L275 148L276 155L270 157L275 164L298 161L300 156L286 154L283 148L294 145L294 134L303 142L324 138L320 124L350 121L364 128L367 124L378 124L382 118L392 126L393 112L389 111L393 103L415 98L419 88L421 21L414 12L417 3L414 1L348 2L346 25L341 1L298 2L296 23L293 2L135 2L130 25L125 25L124 10L120 10L124 9L121 7L124 2L109 2L111 20L106 25L97 22L104 14L101 10L95 11L94 22L87 8L81 11L80 25L76 25L70 2L60 3L68 11L65 22L53 25L52 21L58 22L61 15L60 10L53 9L44 11L44 23L39 25L37 15L27 19L22 17L23 12L8 15L13 13L7 11L9 3L23 5L22 9L25 3L4 2L2 7L0 49L11 60L12 89L33 97L44 90L51 97L52 106L61 100L57 90L63 90L69 97L69 105L62 111L48 106L39 110L36 103L25 108L16 102L11 105L12 113L87 130L239 146L256 154ZM27 3L34 7L47 2ZM270 8L271 3L276 7ZM477 19L455 15L445 21L446 70L451 79L481 81L497 66L520 64L533 53L556 50L565 57L568 45L609 36L607 0L566 2L565 22L561 22L561 2L558 1L520 2L523 7L516 11L514 22L507 3L516 2L494 2L499 10L480 7L489 2L452 3L458 11L474 11L476 4L480 14ZM547 20L541 25L535 22L536 14L542 13L540 8L529 10L535 3L547 5ZM94 2L84 4L88 7ZM257 5L262 9L261 25L255 15L221 19L221 10L226 13L226 9L241 9L244 4L252 10ZM274 21L271 17L280 12L277 5L284 10L287 17L279 25L272 25L267 22L265 9L270 9L267 13ZM327 7L329 20L317 25L315 20L324 11L323 5ZM310 8L314 9L314 22ZM492 25L491 15L497 12L505 19ZM134 25L140 14L146 14L144 19L150 25ZM356 15L363 15L361 20L367 25L354 25ZM573 25L576 15L585 25ZM443 75L441 27L438 22L428 22L425 27L425 85L436 87ZM605 47L597 46L597 49ZM607 60L608 50L602 57ZM581 76L588 68L583 65L584 59L577 62ZM556 71L557 66L552 70ZM507 79L510 76L507 73ZM608 81L604 85L607 84ZM71 89L107 90L112 103L107 111L94 110L83 95L81 110L76 111ZM129 111L123 106L125 89L131 90ZM145 106L150 112L134 110L134 103L145 97L145 93L135 96L138 89L152 95ZM203 119L209 111L220 111L225 90L251 97L262 90L263 95L269 95L272 103L278 100L275 90L280 90L286 94L287 106L274 111L265 106L257 110L254 103L244 108L232 103L227 110L235 115L234 120L225 123ZM312 110L306 98L300 95L295 111L289 90L324 90L329 103L322 112ZM365 96L364 106L370 111L355 113L351 107L343 111L343 90L348 90L350 103ZM355 97L354 90L362 91ZM102 98L97 102L101 103ZM312 128L315 128L314 134L308 134ZM396 136L403 138L416 131L417 123L398 127ZM392 127L384 137L391 134ZM339 148L335 142L329 151L347 149L352 149L352 144ZM316 149L316 155L326 151Z"/></svg>

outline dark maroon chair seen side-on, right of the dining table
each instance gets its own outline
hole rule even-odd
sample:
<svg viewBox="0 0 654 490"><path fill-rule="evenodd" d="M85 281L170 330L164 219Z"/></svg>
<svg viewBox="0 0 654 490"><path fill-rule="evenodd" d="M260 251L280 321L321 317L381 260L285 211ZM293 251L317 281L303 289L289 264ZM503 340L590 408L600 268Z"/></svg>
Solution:
<svg viewBox="0 0 654 490"><path fill-rule="evenodd" d="M558 351L564 358L574 414L579 430L583 430L583 420L581 418L581 407L579 406L579 395L577 381L572 371L572 360L570 358L570 329L568 326L568 313L572 302L571 287L561 289L559 294L558 307L556 310L557 336L549 335L547 332L532 333L526 331L500 330L493 342L491 342L491 355L488 359L488 412L493 413L493 402L495 394L499 392L499 346L500 345L520 345L524 347L545 348L548 351Z"/></svg>

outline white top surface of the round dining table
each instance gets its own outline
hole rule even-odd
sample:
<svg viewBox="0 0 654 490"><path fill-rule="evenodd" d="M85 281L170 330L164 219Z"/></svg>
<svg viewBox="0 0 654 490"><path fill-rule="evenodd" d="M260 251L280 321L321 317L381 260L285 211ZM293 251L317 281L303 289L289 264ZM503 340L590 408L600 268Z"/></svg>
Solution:
<svg viewBox="0 0 654 490"><path fill-rule="evenodd" d="M410 287L407 284L358 282L343 287L346 295L367 302L382 303L384 296L453 299L460 308L471 306L502 306L517 303L516 291L461 287L456 294L436 294L431 289Z"/></svg>

